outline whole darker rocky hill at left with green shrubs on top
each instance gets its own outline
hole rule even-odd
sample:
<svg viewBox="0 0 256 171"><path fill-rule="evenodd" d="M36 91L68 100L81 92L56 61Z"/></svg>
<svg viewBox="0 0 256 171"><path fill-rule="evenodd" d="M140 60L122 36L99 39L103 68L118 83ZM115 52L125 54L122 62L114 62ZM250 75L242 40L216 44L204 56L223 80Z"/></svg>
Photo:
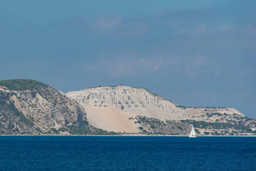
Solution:
<svg viewBox="0 0 256 171"><path fill-rule="evenodd" d="M70 135L101 131L88 123L78 102L47 84L33 80L0 81L1 134Z"/></svg>

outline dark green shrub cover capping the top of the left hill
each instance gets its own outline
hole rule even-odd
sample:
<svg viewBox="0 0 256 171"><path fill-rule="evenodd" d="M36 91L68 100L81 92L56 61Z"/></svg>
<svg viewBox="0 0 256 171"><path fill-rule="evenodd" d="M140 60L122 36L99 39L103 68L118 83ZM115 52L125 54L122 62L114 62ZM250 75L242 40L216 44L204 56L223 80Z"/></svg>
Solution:
<svg viewBox="0 0 256 171"><path fill-rule="evenodd" d="M41 87L49 87L47 84L29 79L13 79L0 81L0 85L10 90L39 90Z"/></svg>

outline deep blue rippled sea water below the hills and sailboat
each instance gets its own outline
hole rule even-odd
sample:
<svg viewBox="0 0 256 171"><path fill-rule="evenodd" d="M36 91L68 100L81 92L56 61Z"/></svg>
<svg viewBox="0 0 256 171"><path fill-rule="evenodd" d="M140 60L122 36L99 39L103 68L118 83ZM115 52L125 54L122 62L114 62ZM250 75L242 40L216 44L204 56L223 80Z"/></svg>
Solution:
<svg viewBox="0 0 256 171"><path fill-rule="evenodd" d="M0 136L1 171L256 171L256 137Z"/></svg>

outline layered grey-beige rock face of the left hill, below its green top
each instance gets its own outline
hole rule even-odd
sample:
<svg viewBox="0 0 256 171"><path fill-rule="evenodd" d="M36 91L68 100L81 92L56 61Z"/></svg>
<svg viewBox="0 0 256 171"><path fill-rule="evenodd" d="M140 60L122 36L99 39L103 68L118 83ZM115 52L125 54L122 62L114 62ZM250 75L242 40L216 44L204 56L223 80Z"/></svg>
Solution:
<svg viewBox="0 0 256 171"><path fill-rule="evenodd" d="M86 113L80 105L52 87L41 91L8 90L0 86L0 99L14 101L15 107L41 128L60 128L74 122L84 124Z"/></svg>

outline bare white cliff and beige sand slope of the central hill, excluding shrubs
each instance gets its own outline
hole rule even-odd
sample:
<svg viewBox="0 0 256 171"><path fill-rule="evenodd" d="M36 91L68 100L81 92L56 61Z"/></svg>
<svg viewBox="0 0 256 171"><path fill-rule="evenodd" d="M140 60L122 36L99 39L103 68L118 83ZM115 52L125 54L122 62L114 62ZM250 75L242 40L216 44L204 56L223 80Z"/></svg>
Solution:
<svg viewBox="0 0 256 171"><path fill-rule="evenodd" d="M244 116L236 109L231 108L182 108L155 93L143 88L125 86L96 87L66 94L76 100L87 112L89 122L97 128L116 132L138 132L135 120L130 116L146 116L155 119L186 120L195 119L206 122L226 122L223 116L211 113L221 113L230 119L233 113ZM232 118L232 117L231 117Z"/></svg>

